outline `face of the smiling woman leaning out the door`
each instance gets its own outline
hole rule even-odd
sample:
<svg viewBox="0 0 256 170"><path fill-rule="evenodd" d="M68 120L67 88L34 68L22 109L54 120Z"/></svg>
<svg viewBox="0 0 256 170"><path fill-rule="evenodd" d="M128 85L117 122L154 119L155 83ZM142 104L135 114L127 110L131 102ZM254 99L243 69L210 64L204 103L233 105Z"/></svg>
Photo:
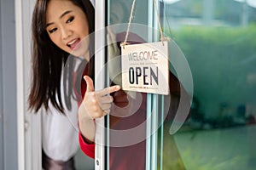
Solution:
<svg viewBox="0 0 256 170"><path fill-rule="evenodd" d="M50 0L46 9L46 31L56 46L75 56L89 57L88 20L70 0ZM83 41L82 41L83 40Z"/></svg>

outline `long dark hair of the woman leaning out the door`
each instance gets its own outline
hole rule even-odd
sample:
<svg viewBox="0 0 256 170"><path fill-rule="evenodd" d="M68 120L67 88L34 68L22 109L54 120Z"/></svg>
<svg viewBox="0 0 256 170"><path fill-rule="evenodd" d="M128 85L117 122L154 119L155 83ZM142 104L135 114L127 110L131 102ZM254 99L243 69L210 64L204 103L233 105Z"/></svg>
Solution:
<svg viewBox="0 0 256 170"><path fill-rule="evenodd" d="M46 8L49 1L38 0L32 14L32 85L28 97L28 109L37 112L44 105L47 111L50 101L55 109L65 113L61 99L61 70L63 65L68 68L63 73L63 85L65 104L70 110L73 96L73 90L71 90L73 88L73 57L69 57L70 54L58 48L49 38L46 31ZM88 20L89 31L92 33L95 30L95 9L90 0L71 1L84 11ZM90 53L93 52L94 38L90 37ZM79 66L79 70L82 70L84 65L83 62ZM90 59L87 71L90 77L94 75L93 68L94 61ZM80 82L81 79L78 78L76 81ZM78 84L77 82L76 84Z"/></svg>

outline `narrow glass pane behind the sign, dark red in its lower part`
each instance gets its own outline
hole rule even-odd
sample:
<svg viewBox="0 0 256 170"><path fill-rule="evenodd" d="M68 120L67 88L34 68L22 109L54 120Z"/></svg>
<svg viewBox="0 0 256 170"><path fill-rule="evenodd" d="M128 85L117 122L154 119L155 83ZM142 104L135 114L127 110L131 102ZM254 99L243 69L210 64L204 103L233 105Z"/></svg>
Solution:
<svg viewBox="0 0 256 170"><path fill-rule="evenodd" d="M108 0L108 31L114 34L109 38L116 44L109 43L110 46L116 45L118 48L108 48L110 84L121 85L120 43L125 41L132 2L132 0ZM128 42L147 42L147 0L137 1L132 23L143 24L143 26L131 26ZM113 103L108 117L107 167L123 170L145 169L147 94L120 90L113 94Z"/></svg>

